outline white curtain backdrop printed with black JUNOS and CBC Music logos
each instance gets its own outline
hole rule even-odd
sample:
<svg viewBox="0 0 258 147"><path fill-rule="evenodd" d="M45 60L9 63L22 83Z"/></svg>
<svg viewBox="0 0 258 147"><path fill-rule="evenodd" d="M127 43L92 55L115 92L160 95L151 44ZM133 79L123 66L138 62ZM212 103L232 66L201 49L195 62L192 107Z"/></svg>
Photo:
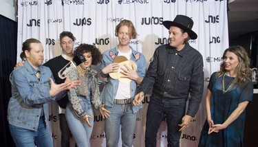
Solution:
<svg viewBox="0 0 258 147"><path fill-rule="evenodd" d="M37 38L45 49L45 61L61 54L59 34L70 31L80 43L96 44L102 52L118 44L115 27L122 19L133 22L138 38L131 46L149 60L156 47L168 43L168 30L163 21L173 21L177 14L184 14L194 21L193 30L198 38L189 41L204 58L204 82L219 69L224 49L228 47L228 20L226 0L18 0L17 60L23 41ZM206 94L204 89L204 95ZM138 113L133 146L144 146L146 111L151 93L146 95L143 108ZM182 132L181 146L197 146L200 131L206 119L204 98L191 126ZM54 146L61 146L61 133L57 105L52 102L49 124ZM105 146L104 120L94 110L92 146ZM166 146L166 118L158 133L158 146ZM120 142L121 144L121 142Z"/></svg>

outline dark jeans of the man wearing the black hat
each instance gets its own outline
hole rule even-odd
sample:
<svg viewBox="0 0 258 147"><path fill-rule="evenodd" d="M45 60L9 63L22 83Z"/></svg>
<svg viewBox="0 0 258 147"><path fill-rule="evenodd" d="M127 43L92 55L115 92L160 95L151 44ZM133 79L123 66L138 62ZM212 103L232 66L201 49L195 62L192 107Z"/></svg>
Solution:
<svg viewBox="0 0 258 147"><path fill-rule="evenodd" d="M166 115L168 146L179 147L181 132L178 124L182 124L185 109L186 100L161 102L160 98L152 95L147 110L145 146L156 147L158 129L164 119L164 115Z"/></svg>

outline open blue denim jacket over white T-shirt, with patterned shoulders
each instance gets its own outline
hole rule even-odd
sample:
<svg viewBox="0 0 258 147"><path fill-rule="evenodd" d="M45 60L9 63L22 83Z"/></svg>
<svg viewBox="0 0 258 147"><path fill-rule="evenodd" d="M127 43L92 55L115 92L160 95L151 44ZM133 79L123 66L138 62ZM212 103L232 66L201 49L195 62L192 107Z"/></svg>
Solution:
<svg viewBox="0 0 258 147"><path fill-rule="evenodd" d="M132 47L131 47L132 49ZM118 48L114 47L113 49L109 49L103 53L102 63L101 63L101 69L106 67L107 65L113 63L114 58L118 56ZM132 56L131 60L136 62L137 65L137 74L141 78L143 78L146 74L146 60L143 54L140 52L132 49ZM102 103L105 104L105 106L113 107L114 104L114 98L116 96L116 92L118 91L118 84L119 80L112 79L110 77L107 78L107 84L105 84L103 91L100 95L100 98L102 99ZM131 87L131 98L134 98L134 95L136 95L136 87L138 84L131 80L130 87ZM138 110L142 108L142 106L133 106L133 113L138 112Z"/></svg>

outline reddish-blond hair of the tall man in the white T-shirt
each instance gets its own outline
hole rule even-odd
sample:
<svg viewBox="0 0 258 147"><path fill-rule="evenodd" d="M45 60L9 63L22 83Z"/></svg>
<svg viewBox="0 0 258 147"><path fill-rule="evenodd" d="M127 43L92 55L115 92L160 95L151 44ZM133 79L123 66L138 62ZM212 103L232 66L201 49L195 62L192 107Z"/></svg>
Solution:
<svg viewBox="0 0 258 147"><path fill-rule="evenodd" d="M136 38L138 35L136 32L136 28L134 27L133 23L127 19L122 20L118 25L116 25L115 35L118 36L120 27L122 27L124 25L129 27L129 30L131 31L130 37Z"/></svg>

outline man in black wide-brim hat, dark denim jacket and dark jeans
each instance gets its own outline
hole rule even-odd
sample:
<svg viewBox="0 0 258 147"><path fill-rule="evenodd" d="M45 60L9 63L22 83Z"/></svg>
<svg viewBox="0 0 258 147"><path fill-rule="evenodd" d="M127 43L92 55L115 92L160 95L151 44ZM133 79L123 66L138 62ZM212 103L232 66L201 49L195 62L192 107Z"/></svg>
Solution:
<svg viewBox="0 0 258 147"><path fill-rule="evenodd" d="M153 87L147 111L145 146L156 146L160 123L166 115L168 146L179 146L181 132L187 128L202 101L204 72L202 55L188 43L196 39L193 21L177 15L164 21L169 30L169 44L155 49L147 74L140 84L133 104L139 105ZM190 98L189 98L190 95ZM189 100L186 110L186 101Z"/></svg>

